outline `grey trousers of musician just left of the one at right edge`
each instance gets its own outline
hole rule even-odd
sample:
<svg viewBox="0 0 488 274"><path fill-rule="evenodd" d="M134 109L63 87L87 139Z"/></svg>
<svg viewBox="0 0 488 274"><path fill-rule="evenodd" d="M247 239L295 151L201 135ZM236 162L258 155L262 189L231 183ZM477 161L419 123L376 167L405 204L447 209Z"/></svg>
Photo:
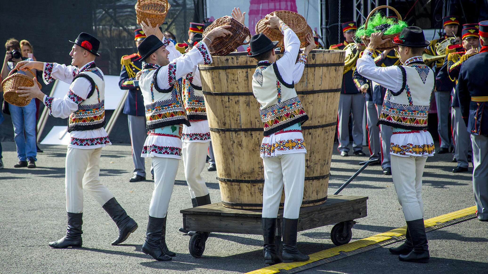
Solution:
<svg viewBox="0 0 488 274"><path fill-rule="evenodd" d="M469 138L468 129L461 116L459 107L452 107L453 130L452 140L454 142L454 157L459 167L468 168L468 155L471 148L471 139Z"/></svg>

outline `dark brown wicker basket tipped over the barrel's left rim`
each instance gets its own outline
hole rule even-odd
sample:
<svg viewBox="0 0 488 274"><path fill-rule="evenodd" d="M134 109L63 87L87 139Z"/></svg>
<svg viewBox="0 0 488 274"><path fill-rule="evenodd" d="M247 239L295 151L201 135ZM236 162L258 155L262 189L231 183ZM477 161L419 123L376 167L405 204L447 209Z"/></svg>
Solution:
<svg viewBox="0 0 488 274"><path fill-rule="evenodd" d="M233 52L239 46L249 43L244 43L244 40L250 35L249 29L230 16L224 16L213 21L203 32L203 37L214 28L225 25L230 25L230 28L227 30L230 31L232 35L219 37L212 41L212 44L208 47L208 51L212 56L225 56Z"/></svg>

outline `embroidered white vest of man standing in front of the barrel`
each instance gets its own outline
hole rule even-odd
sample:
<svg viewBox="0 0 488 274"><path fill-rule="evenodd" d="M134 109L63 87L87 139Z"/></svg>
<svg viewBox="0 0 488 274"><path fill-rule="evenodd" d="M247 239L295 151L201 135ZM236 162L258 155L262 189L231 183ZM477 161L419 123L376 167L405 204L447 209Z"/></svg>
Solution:
<svg viewBox="0 0 488 274"><path fill-rule="evenodd" d="M276 63L261 62L252 76L252 92L261 104L264 136L308 120L293 82L286 83Z"/></svg>

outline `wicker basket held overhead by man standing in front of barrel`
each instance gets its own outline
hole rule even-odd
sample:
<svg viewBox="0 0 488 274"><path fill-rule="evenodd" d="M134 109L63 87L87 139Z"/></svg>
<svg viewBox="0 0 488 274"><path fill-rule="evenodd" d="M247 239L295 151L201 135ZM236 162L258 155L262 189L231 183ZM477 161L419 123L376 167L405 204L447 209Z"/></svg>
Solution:
<svg viewBox="0 0 488 274"><path fill-rule="evenodd" d="M300 39L300 47L303 48L308 45L306 37L308 34L312 33L312 28L310 28L303 16L296 12L287 10L278 10L274 11L274 13L276 13L276 16L283 20L283 22L288 25L293 30L293 32L295 32L295 34L298 36L298 39ZM273 12L270 14L273 14ZM264 35L267 38L271 39L271 41L278 41L278 44L276 46L282 48L283 50L285 48L285 44L283 42L283 34L279 29L267 28L268 24L265 24L264 21L266 21L265 18L259 20L256 24L256 34L264 33Z"/></svg>

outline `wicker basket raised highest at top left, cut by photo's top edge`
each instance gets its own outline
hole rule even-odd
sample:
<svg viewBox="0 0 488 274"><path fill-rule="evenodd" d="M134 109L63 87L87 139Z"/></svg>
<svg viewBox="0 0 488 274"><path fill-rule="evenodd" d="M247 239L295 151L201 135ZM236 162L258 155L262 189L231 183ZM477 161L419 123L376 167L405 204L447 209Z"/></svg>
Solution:
<svg viewBox="0 0 488 274"><path fill-rule="evenodd" d="M167 0L137 0L136 3L136 18L137 23L146 22L149 19L151 25L161 25L168 15L168 10L171 5Z"/></svg>

